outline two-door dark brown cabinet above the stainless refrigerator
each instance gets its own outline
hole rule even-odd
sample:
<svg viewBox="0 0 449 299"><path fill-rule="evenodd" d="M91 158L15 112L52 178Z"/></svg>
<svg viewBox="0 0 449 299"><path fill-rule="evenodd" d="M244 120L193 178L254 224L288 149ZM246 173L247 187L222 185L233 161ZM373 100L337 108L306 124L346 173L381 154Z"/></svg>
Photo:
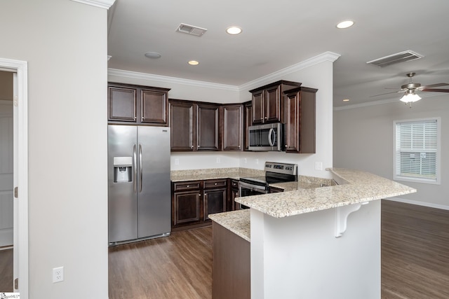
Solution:
<svg viewBox="0 0 449 299"><path fill-rule="evenodd" d="M167 126L169 90L108 83L108 123Z"/></svg>

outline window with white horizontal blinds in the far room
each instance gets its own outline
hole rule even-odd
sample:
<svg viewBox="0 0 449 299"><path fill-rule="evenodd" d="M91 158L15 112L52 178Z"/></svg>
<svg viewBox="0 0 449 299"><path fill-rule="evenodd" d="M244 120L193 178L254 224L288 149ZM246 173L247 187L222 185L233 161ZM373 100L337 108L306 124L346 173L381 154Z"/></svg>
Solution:
<svg viewBox="0 0 449 299"><path fill-rule="evenodd" d="M394 179L440 183L440 118L396 120Z"/></svg>

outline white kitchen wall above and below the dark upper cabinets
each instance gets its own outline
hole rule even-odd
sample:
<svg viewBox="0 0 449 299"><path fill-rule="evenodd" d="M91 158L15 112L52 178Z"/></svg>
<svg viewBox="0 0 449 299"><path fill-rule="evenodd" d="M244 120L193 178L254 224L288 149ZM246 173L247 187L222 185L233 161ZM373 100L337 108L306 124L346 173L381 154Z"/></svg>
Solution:
<svg viewBox="0 0 449 299"><path fill-rule="evenodd" d="M279 80L301 82L303 86L318 88L316 93L316 153L253 153L253 152L195 152L172 153L171 169L207 169L218 167L246 167L263 169L265 161L291 162L299 166L299 174L330 178L326 167L333 166L333 62L320 63L304 67L288 74L267 76L244 87L229 85L213 85L195 81L174 81L175 78L158 77L149 74L139 74L127 71L109 70L108 80L119 83L132 83L156 87L171 88L170 98L189 99L216 103L238 103L251 100L248 90ZM239 90L239 91L237 91ZM217 162L220 158L220 163ZM176 159L179 164L176 164ZM323 170L315 170L315 162L323 163Z"/></svg>

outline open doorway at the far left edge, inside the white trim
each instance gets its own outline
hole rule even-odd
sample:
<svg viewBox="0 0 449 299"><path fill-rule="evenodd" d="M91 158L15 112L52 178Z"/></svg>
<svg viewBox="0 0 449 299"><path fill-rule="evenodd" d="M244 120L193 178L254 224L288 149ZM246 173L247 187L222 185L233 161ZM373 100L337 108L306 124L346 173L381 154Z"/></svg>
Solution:
<svg viewBox="0 0 449 299"><path fill-rule="evenodd" d="M0 71L0 291L13 291L13 73Z"/></svg>

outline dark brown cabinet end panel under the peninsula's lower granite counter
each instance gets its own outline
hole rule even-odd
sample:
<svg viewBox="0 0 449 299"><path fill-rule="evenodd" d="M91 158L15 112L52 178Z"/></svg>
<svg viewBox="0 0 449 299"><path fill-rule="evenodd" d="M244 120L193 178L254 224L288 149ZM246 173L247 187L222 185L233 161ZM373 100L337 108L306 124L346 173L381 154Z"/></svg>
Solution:
<svg viewBox="0 0 449 299"><path fill-rule="evenodd" d="M212 222L212 298L251 298L250 242Z"/></svg>

